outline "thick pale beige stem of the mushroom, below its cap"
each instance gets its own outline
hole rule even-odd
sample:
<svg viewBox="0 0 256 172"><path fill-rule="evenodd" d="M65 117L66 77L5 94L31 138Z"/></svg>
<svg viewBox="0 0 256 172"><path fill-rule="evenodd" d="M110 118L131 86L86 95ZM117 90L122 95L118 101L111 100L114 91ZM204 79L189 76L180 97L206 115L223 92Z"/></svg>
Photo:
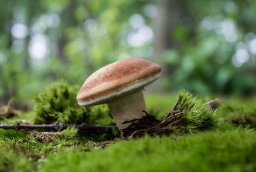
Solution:
<svg viewBox="0 0 256 172"><path fill-rule="evenodd" d="M143 110L146 111L146 106L142 90L112 100L108 102L108 107L119 130L129 126L129 123L122 124L124 121L140 119L146 115L143 113Z"/></svg>

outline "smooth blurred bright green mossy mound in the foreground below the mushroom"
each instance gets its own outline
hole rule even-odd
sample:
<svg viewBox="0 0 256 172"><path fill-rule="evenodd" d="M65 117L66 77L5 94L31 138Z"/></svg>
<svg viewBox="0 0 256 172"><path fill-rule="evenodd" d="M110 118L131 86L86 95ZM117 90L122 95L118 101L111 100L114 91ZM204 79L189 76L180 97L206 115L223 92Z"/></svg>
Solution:
<svg viewBox="0 0 256 172"><path fill-rule="evenodd" d="M255 171L256 133L201 132L120 141L102 151L50 155L39 171Z"/></svg>

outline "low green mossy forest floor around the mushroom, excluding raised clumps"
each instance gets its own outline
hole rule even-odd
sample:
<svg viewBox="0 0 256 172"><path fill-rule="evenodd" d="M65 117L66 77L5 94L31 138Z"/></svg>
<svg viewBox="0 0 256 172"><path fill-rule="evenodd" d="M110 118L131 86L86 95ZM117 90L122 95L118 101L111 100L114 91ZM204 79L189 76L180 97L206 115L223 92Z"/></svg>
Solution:
<svg viewBox="0 0 256 172"><path fill-rule="evenodd" d="M175 95L145 100L159 119L176 101ZM72 128L54 139L0 129L0 171L256 171L256 97L220 100L218 127L196 134L98 143ZM31 118L27 112L1 123Z"/></svg>

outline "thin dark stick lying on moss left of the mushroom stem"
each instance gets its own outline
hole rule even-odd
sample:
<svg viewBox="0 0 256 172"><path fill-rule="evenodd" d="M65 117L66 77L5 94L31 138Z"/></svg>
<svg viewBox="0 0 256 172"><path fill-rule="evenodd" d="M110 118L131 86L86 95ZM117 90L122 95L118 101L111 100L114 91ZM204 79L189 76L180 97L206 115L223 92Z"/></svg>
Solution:
<svg viewBox="0 0 256 172"><path fill-rule="evenodd" d="M41 124L41 125L26 125L26 124L0 124L0 129L50 129L50 130L63 130L67 129L67 127L75 127L79 130L87 130L93 132L95 130L104 131L104 132L112 132L113 129L117 129L116 126L111 125L87 125L86 123L82 123L79 125L68 125L66 123L52 123L52 124Z"/></svg>

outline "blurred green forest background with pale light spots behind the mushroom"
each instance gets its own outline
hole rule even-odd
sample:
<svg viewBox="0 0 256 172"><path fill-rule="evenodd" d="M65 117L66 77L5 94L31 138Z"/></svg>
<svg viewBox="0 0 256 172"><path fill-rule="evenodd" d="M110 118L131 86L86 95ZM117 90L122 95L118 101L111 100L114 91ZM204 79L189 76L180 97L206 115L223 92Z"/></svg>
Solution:
<svg viewBox="0 0 256 172"><path fill-rule="evenodd" d="M0 0L0 103L83 84L130 56L163 67L152 90L256 92L256 1Z"/></svg>

